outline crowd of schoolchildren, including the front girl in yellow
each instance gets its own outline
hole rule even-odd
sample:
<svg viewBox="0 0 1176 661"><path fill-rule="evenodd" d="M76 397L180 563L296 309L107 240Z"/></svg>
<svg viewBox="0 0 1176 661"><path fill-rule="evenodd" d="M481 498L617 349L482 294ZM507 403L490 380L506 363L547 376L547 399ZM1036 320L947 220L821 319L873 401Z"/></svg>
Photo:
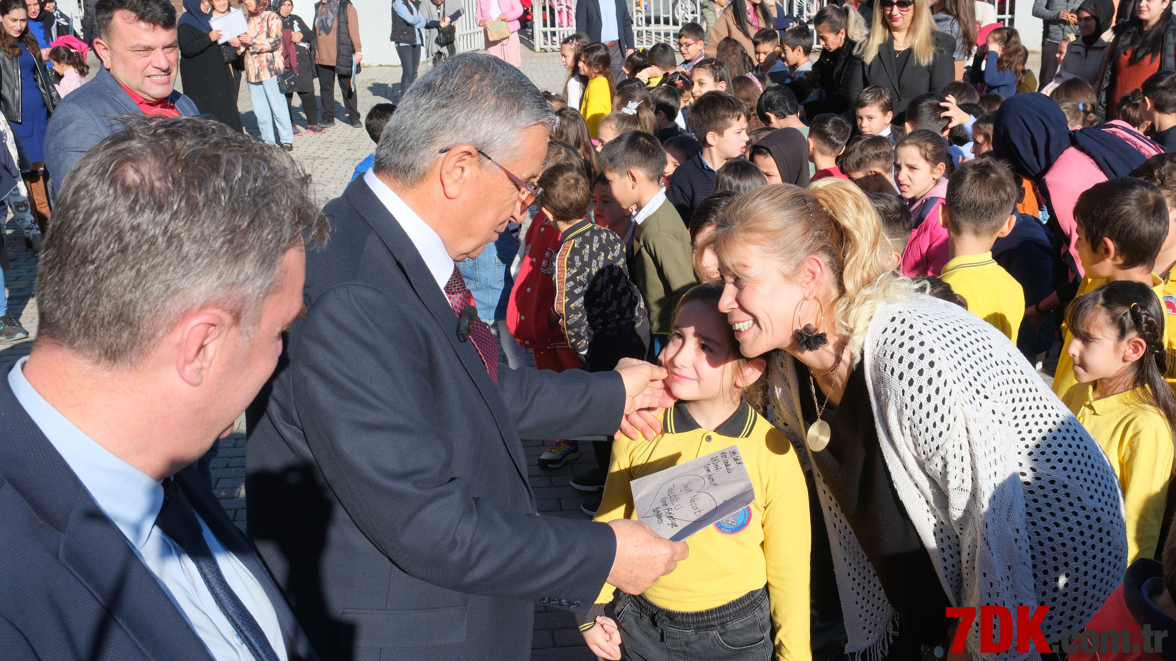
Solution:
<svg viewBox="0 0 1176 661"><path fill-rule="evenodd" d="M664 433L595 441L596 468L572 481L595 493L582 509L597 521L635 518L630 481L731 445L756 496L691 538L689 559L646 594L622 595L615 617L604 612L615 596L606 585L579 616L595 654L620 659L623 642L632 659L677 659L667 656L675 645L699 659L811 656L808 574L797 570L809 567L813 541L808 510L795 507L809 498L804 469L763 418L764 356L740 355L717 312L719 262L696 246L749 191L826 178L868 195L888 268L990 323L1038 369L1058 350L1053 389L1114 467L1128 560L1140 560L1095 621L1121 621L1124 593L1140 599L1144 580L1163 577L1164 595L1176 588L1176 560L1167 572L1157 563L1176 545L1167 532L1176 509L1168 488L1176 154L1074 191L1076 203L1062 213L1073 214L1076 240L1060 235L1058 200L1042 178L994 151L1002 104L1024 92L1020 35L1005 27L984 34L971 71L980 85L920 94L901 114L890 91L866 87L844 116L804 116L789 86L813 65L803 24L761 27L750 53L726 39L721 58L706 56L706 32L688 24L677 35L681 60L664 44L635 52L621 81L604 45L580 33L563 40L563 89L544 93L556 119L541 194L522 238L503 240L516 255L501 292L500 341L530 349L540 369L608 370L634 358L669 370L679 403L661 413ZM1071 131L1097 131L1089 84L1071 78L1048 92ZM1130 102L1140 115L1132 128L1176 147L1176 72L1150 75ZM373 140L393 111L373 109ZM1121 109L1121 120L1130 112ZM1042 309L1067 291L1071 300ZM576 441L556 440L539 463L579 456ZM749 525L750 534L734 534ZM689 634L669 641L664 617ZM726 633L704 635L710 629Z"/></svg>

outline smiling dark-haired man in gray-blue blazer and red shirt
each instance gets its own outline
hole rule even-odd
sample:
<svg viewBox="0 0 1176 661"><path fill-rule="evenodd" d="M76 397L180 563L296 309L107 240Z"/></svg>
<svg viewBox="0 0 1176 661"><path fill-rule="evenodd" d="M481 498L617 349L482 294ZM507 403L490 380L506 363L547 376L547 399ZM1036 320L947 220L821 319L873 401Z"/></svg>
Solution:
<svg viewBox="0 0 1176 661"><path fill-rule="evenodd" d="M115 118L200 113L192 99L174 89L180 47L175 7L168 0L100 0L94 22L94 52L102 66L61 100L45 132L53 199L82 154L115 132Z"/></svg>

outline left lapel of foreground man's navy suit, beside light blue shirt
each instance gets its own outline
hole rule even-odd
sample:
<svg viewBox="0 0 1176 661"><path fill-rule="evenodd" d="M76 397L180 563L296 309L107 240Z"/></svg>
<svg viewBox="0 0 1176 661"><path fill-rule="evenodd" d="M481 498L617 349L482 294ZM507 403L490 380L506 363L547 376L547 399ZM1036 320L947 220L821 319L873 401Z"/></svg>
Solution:
<svg viewBox="0 0 1176 661"><path fill-rule="evenodd" d="M0 427L8 432L0 443L0 475L60 535L58 561L111 615L100 626L121 627L148 657L209 661L155 576L25 413L7 373L0 381Z"/></svg>

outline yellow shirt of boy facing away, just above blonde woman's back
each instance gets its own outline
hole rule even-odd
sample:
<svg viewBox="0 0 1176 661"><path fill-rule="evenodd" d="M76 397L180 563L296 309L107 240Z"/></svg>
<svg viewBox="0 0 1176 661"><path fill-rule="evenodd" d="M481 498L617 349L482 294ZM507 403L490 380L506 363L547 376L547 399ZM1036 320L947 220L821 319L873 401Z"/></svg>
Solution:
<svg viewBox="0 0 1176 661"><path fill-rule="evenodd" d="M1017 343L1017 329L1025 314L1025 295L1021 283L996 263L991 252L951 259L943 265L940 280L968 301L968 312Z"/></svg>

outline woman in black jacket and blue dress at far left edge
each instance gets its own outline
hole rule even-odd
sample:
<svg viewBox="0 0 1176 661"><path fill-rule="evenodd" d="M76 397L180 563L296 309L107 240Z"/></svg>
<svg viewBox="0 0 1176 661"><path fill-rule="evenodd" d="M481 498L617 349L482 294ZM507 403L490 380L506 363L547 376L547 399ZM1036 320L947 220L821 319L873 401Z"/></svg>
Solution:
<svg viewBox="0 0 1176 661"><path fill-rule="evenodd" d="M60 102L41 47L28 31L25 0L0 0L0 109L12 133L28 154L32 166L21 172L33 202L33 216L47 228L49 199L46 195L45 128Z"/></svg>

